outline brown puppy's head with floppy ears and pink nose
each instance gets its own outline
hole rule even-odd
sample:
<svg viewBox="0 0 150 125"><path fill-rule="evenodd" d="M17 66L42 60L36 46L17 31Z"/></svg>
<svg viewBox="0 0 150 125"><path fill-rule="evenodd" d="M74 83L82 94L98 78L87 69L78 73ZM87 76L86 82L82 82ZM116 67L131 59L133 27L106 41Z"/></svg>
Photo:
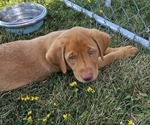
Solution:
<svg viewBox="0 0 150 125"><path fill-rule="evenodd" d="M110 37L96 29L75 27L53 42L46 58L66 73L69 67L77 80L90 82L98 76L98 58L108 47Z"/></svg>

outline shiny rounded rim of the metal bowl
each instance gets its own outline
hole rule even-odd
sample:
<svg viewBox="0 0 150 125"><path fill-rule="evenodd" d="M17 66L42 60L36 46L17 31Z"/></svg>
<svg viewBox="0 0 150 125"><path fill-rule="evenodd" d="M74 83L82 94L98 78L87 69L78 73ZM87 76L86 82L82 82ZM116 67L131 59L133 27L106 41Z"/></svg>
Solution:
<svg viewBox="0 0 150 125"><path fill-rule="evenodd" d="M47 14L47 10L46 10L46 8L43 6L43 5L41 5L41 4L38 4L38 3L36 3L36 2L22 2L22 3L18 3L18 4L14 4L14 5L12 5L12 6L9 6L9 7L16 7L16 6L19 6L19 5L21 5L21 4L34 4L35 6L39 6L40 8L42 8L42 12L41 12L41 14L39 14L38 16L36 16L36 17L34 17L34 18L32 18L32 19L29 19L29 20L26 20L26 21L23 21L23 22L3 22L3 21L1 21L0 20L0 26L1 27L8 27L8 28L19 28L19 27L24 27L24 26L28 26L28 25L32 25L32 24L35 24L35 23L37 23L37 22L39 22L39 21L41 21L41 20L43 20L43 18L46 16L46 14ZM4 8L4 9L2 9L1 11L0 11L0 13L2 13L4 10L6 10L7 8L9 8L9 7L6 7L6 8Z"/></svg>

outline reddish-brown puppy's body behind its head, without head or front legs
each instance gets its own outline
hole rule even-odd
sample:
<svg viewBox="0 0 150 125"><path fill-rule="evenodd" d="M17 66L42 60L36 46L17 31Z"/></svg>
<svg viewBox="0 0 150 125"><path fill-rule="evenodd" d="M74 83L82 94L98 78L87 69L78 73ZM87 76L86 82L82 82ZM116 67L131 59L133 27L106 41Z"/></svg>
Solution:
<svg viewBox="0 0 150 125"><path fill-rule="evenodd" d="M51 43L64 31L56 31L31 40L0 45L0 91L12 90L55 71L45 55Z"/></svg>

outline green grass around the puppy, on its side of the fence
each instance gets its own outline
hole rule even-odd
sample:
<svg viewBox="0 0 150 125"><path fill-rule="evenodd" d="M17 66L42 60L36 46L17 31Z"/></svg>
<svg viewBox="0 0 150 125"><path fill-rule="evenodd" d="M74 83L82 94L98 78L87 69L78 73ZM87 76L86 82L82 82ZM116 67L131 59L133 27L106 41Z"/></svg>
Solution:
<svg viewBox="0 0 150 125"><path fill-rule="evenodd" d="M48 15L45 25L28 35L15 35L0 28L0 43L18 39L31 39L54 30L73 26L100 28L112 36L113 47L134 45L138 54L129 59L118 60L103 68L95 82L79 83L71 71L56 73L44 81L26 87L0 93L1 125L136 125L150 124L150 51L133 41L99 27L85 15L55 1L46 5ZM91 86L95 93L87 92ZM38 96L39 100L21 101L21 97ZM31 115L27 113L32 111ZM42 119L46 118L43 122ZM67 118L63 115L68 114ZM32 117L32 122L29 117Z"/></svg>

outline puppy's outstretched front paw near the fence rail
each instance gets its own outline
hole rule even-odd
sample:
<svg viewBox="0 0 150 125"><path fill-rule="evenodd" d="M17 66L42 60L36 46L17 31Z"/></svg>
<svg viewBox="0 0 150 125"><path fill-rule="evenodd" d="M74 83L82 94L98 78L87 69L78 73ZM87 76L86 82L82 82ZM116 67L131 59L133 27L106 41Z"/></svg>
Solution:
<svg viewBox="0 0 150 125"><path fill-rule="evenodd" d="M120 51L123 52L124 57L132 57L138 52L138 49L133 46L125 46L122 47Z"/></svg>

